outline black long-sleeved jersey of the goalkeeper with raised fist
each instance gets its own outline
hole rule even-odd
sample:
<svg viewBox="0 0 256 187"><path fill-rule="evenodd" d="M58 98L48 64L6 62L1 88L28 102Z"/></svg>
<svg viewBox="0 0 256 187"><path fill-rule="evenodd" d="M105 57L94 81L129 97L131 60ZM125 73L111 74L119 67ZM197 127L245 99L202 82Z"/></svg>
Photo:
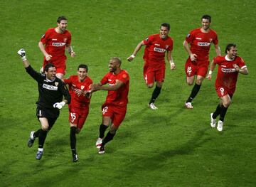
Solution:
<svg viewBox="0 0 256 187"><path fill-rule="evenodd" d="M38 82L39 97L36 102L39 107L54 109L55 102L62 102L63 96L70 103L71 97L67 87L59 78L55 80L46 79L46 75L36 72L31 65L26 68L26 72Z"/></svg>

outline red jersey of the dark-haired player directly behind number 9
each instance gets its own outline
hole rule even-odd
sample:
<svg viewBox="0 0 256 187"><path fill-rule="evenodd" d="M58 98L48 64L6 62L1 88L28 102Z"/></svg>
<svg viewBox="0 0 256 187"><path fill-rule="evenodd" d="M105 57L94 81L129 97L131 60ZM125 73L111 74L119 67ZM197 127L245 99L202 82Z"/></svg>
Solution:
<svg viewBox="0 0 256 187"><path fill-rule="evenodd" d="M201 28L196 28L186 36L186 41L190 43L190 50L197 55L198 61L208 61L210 44L218 45L218 36L212 29L203 33Z"/></svg>

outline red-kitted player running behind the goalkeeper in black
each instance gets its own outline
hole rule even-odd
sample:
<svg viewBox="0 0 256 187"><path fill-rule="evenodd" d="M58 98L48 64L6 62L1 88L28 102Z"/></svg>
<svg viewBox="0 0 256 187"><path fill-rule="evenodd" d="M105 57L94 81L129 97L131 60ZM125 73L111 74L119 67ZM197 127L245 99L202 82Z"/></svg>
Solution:
<svg viewBox="0 0 256 187"><path fill-rule="evenodd" d="M60 16L57 19L57 27L49 28L42 36L38 46L42 51L43 67L48 63L53 63L56 68L56 77L62 79L66 70L66 55L65 48L68 49L71 57L75 56L75 52L71 45L71 33L66 29L68 19L65 16Z"/></svg>

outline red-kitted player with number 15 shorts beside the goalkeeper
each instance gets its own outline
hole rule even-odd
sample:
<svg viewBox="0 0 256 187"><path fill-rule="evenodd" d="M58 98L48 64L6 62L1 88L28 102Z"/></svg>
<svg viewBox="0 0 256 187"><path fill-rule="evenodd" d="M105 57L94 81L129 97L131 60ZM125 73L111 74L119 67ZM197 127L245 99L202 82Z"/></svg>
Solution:
<svg viewBox="0 0 256 187"><path fill-rule="evenodd" d="M87 115L89 114L90 92L89 86L92 80L87 76L88 67L85 64L78 66L78 75L71 75L70 78L64 79L65 84L69 86L71 95L71 103L69 108L70 122L70 148L72 151L73 161L78 161L78 154L75 149L76 137L85 124Z"/></svg>

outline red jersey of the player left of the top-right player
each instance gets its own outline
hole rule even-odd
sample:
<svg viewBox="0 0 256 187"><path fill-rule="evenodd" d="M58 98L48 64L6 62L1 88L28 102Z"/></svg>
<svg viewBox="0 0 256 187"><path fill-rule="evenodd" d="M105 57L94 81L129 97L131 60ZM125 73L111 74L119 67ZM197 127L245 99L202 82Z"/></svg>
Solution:
<svg viewBox="0 0 256 187"><path fill-rule="evenodd" d="M171 37L162 39L159 34L153 34L144 40L146 48L144 50L144 60L151 65L165 64L166 50L171 51L174 41Z"/></svg>

